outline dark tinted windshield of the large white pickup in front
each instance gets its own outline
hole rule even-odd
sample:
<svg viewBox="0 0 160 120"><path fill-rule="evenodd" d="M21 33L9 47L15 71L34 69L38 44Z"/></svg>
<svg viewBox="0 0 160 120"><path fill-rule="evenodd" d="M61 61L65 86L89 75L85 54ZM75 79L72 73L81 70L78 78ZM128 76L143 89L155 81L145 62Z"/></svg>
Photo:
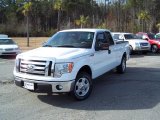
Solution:
<svg viewBox="0 0 160 120"><path fill-rule="evenodd" d="M94 32L58 32L43 47L91 48Z"/></svg>

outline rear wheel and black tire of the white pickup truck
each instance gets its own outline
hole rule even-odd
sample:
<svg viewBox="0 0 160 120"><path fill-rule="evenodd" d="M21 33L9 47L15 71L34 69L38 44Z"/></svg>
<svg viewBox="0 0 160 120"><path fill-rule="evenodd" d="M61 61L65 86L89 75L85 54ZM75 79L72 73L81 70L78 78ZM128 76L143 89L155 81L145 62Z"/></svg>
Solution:
<svg viewBox="0 0 160 120"><path fill-rule="evenodd" d="M126 57L123 56L121 64L117 66L117 72L123 74L125 73L125 71L126 71Z"/></svg>

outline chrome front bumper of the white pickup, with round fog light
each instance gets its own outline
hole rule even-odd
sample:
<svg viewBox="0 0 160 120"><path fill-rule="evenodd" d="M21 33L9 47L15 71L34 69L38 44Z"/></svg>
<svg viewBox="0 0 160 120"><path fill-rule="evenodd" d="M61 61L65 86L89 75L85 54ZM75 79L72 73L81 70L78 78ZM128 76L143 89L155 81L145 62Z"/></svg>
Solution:
<svg viewBox="0 0 160 120"><path fill-rule="evenodd" d="M51 85L52 92L60 93L60 92L70 92L73 90L75 80L70 81L39 81L39 80L32 80L32 79L25 79L20 77L15 77L16 85L20 87L24 87L24 82L33 83L34 86L38 85ZM35 88L36 89L36 88Z"/></svg>

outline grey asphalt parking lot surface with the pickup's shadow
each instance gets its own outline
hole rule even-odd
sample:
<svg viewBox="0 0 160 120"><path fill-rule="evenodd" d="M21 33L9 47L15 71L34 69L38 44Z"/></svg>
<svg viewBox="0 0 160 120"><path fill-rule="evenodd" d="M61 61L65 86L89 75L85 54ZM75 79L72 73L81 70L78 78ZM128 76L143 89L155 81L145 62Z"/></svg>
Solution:
<svg viewBox="0 0 160 120"><path fill-rule="evenodd" d="M14 59L0 58L0 120L159 120L160 55L132 55L125 74L94 81L91 96L30 92L13 84ZM46 90L47 91L47 90Z"/></svg>

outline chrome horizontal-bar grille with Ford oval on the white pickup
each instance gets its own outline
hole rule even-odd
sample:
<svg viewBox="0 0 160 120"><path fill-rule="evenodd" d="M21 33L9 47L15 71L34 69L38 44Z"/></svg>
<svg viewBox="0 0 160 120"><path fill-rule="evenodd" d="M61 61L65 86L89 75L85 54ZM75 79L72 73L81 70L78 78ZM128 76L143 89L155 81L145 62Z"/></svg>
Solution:
<svg viewBox="0 0 160 120"><path fill-rule="evenodd" d="M32 75L50 76L52 61L24 60L20 62L20 72Z"/></svg>

